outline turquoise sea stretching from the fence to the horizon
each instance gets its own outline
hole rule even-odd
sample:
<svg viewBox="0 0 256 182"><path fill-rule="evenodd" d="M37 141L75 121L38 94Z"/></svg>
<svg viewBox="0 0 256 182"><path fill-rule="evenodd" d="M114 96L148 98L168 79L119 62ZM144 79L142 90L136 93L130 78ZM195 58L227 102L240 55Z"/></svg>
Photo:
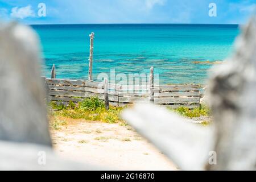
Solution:
<svg viewBox="0 0 256 182"><path fill-rule="evenodd" d="M43 48L43 73L88 78L89 34L94 32L93 78L98 73L148 73L160 84L204 84L213 64L232 53L238 25L227 24L55 24L33 25ZM196 61L196 62L195 62Z"/></svg>

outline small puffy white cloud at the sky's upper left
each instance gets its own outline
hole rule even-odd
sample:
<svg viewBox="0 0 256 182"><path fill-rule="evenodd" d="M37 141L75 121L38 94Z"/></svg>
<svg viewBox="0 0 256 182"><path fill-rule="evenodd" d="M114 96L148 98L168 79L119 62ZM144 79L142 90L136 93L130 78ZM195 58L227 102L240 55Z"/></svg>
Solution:
<svg viewBox="0 0 256 182"><path fill-rule="evenodd" d="M25 6L25 7L13 7L13 9L11 9L11 17L12 18L20 18L20 19L24 19L24 18L28 18L28 17L34 17L35 16L35 12L34 10L32 10L31 5Z"/></svg>

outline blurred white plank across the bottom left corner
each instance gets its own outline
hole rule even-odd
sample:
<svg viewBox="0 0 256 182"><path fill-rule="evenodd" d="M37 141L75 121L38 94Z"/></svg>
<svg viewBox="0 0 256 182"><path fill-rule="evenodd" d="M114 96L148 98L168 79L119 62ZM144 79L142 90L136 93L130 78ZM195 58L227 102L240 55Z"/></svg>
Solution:
<svg viewBox="0 0 256 182"><path fill-rule="evenodd" d="M103 170L105 168L65 160L55 155L52 148L0 140L0 170Z"/></svg>

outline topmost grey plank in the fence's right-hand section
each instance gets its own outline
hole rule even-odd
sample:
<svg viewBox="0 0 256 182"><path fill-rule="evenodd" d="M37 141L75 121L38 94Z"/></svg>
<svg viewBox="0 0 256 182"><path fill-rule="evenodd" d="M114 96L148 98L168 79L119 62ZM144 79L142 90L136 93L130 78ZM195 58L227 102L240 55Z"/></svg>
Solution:
<svg viewBox="0 0 256 182"><path fill-rule="evenodd" d="M166 92L166 91L198 91L199 85L158 85L154 88L155 91Z"/></svg>

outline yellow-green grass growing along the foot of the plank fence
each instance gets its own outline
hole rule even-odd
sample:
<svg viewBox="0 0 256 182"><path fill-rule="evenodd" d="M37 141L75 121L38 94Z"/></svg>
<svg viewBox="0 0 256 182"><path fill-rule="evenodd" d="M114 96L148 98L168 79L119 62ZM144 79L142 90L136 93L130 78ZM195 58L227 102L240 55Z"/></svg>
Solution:
<svg viewBox="0 0 256 182"><path fill-rule="evenodd" d="M61 104L61 102L51 101L49 102L49 106L54 110L52 115L55 117L62 116L73 119L86 119L88 121L102 121L107 123L118 122L120 125L127 125L121 117L121 112L125 107L110 106L109 110L106 110L104 102L97 97L85 98L84 101L76 104L70 101L67 106ZM209 107L205 105L200 105L200 107L195 109L179 107L178 109L170 110L189 118L209 116L211 114ZM61 125L62 124L59 121L51 123L51 127L53 129L59 129Z"/></svg>

